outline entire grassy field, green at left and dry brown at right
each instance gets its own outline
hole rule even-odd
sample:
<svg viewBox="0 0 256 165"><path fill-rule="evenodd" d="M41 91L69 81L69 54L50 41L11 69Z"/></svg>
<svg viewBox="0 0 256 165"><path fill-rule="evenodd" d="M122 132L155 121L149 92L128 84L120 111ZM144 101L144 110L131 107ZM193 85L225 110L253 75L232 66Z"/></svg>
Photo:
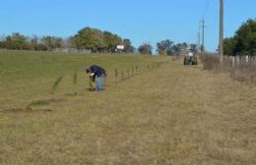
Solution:
<svg viewBox="0 0 256 165"><path fill-rule="evenodd" d="M1 51L0 164L256 164L256 87L166 60ZM86 90L90 64L103 92Z"/></svg>

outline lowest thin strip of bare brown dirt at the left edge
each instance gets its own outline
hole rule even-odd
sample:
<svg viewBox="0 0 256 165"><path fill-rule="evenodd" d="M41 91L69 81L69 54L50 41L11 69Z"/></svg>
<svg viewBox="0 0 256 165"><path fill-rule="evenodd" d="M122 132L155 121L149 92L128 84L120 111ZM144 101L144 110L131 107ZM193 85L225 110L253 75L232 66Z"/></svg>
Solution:
<svg viewBox="0 0 256 165"><path fill-rule="evenodd" d="M50 109L9 109L0 111L0 113L5 114L33 114L33 113L50 113L52 110Z"/></svg>

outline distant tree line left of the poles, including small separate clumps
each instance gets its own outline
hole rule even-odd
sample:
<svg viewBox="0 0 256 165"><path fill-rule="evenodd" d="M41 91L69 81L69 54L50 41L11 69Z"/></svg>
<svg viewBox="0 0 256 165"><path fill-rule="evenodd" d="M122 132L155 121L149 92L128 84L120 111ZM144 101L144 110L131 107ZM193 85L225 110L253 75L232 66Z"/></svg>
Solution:
<svg viewBox="0 0 256 165"><path fill-rule="evenodd" d="M39 50L52 51L61 48L74 48L90 50L92 53L115 53L118 52L117 45L123 45L123 53L153 54L153 46L143 43L137 49L128 38L110 31L102 31L93 27L84 27L69 38L57 36L26 36L19 32L0 38L0 48L13 50ZM188 45L186 42L176 43L169 39L157 43L157 52L160 55L179 55L182 48L192 48L196 51L196 44Z"/></svg>

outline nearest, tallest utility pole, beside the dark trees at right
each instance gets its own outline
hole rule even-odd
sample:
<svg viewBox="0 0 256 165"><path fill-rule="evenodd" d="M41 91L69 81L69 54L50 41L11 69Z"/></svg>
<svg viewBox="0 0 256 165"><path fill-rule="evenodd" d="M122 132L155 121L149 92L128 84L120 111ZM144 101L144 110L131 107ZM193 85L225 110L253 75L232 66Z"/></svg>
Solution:
<svg viewBox="0 0 256 165"><path fill-rule="evenodd" d="M224 0L220 0L220 63L224 61Z"/></svg>

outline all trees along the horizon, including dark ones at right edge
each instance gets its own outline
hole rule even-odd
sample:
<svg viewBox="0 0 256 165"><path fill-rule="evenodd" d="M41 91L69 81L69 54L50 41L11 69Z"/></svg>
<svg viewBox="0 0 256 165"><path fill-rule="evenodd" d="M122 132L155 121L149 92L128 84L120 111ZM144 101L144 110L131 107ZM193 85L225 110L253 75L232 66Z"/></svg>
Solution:
<svg viewBox="0 0 256 165"><path fill-rule="evenodd" d="M117 52L117 45L124 46L122 50L124 53L153 54L153 46L150 43L143 43L136 49L130 39L122 39L121 36L110 31L92 27L84 27L69 38L50 35L26 36L19 32L0 37L0 48L14 50L51 51L58 48L74 48L90 50L93 53L114 53ZM160 55L179 55L188 47L193 52L198 50L196 44L174 43L165 39L157 43L157 52ZM256 19L249 19L236 30L234 36L224 39L224 54L256 55Z"/></svg>

